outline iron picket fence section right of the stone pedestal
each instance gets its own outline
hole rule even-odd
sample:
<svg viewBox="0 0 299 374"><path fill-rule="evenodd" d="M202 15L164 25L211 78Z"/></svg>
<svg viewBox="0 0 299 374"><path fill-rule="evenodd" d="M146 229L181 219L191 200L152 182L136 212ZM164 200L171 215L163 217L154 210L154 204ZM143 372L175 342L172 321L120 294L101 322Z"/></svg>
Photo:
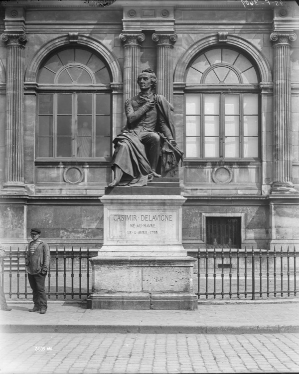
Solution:
<svg viewBox="0 0 299 374"><path fill-rule="evenodd" d="M296 296L296 248L287 251L206 249L197 253L197 296ZM203 278L203 280L202 280Z"/></svg>

